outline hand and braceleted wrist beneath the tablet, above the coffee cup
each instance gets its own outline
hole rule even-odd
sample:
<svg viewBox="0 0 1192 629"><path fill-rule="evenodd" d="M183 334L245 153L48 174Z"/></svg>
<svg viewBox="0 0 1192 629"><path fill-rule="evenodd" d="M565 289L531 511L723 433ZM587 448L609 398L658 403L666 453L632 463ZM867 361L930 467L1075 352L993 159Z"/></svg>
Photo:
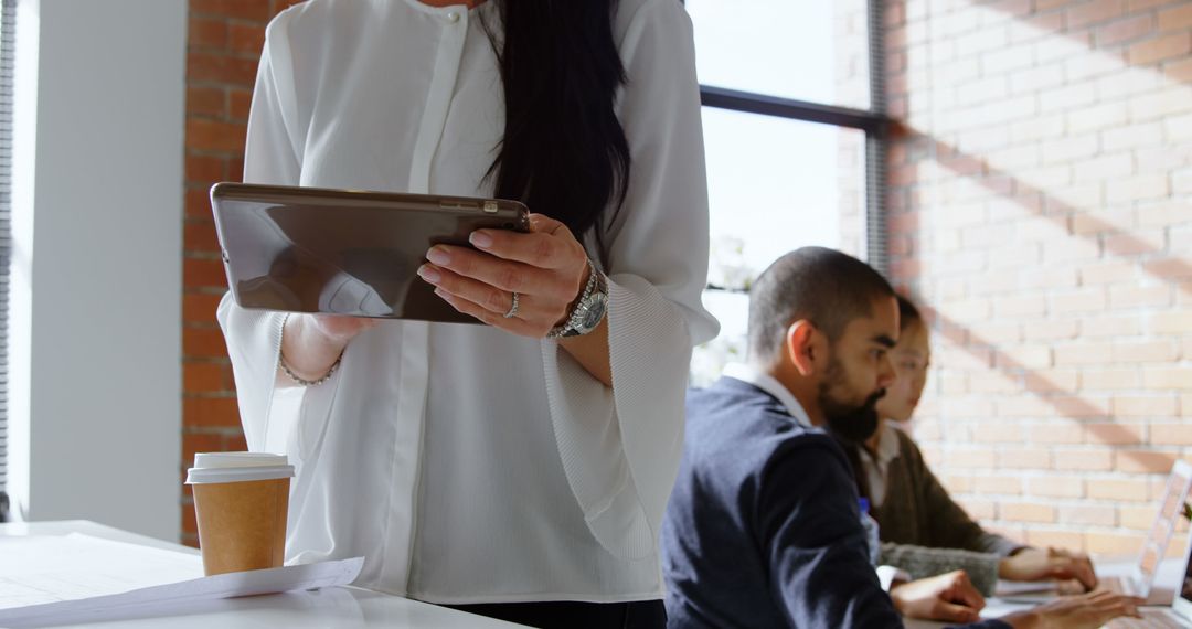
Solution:
<svg viewBox="0 0 1192 629"><path fill-rule="evenodd" d="M298 378L318 380L331 369L348 342L378 324L377 319L362 317L291 314L281 330L281 359ZM281 370L278 372L280 378Z"/></svg>

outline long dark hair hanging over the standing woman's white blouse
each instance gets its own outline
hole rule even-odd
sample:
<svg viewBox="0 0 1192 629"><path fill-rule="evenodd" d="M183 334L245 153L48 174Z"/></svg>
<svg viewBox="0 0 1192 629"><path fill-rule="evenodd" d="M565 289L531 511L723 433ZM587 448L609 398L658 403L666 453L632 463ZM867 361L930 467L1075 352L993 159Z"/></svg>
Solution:
<svg viewBox="0 0 1192 629"><path fill-rule="evenodd" d="M625 67L613 39L616 0L490 0L503 37L485 29L505 92L505 133L486 176L571 229L603 228L625 203L629 144L613 111ZM498 41L499 39L499 41ZM602 222L606 208L614 213ZM603 223L603 224L602 224Z"/></svg>

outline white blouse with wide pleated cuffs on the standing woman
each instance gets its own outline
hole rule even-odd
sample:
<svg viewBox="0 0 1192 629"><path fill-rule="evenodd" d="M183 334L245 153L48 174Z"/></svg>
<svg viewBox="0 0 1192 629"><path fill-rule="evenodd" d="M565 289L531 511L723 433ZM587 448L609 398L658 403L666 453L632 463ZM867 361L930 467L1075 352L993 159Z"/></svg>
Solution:
<svg viewBox="0 0 1192 629"><path fill-rule="evenodd" d="M267 31L244 180L489 195L502 137L495 7L311 0ZM553 341L386 320L283 404L281 313L219 306L253 450L297 465L286 556L364 555L359 584L435 603L659 598L708 217L691 24L622 0L633 158L608 229L613 388ZM551 208L530 208L550 214ZM591 238L588 238L590 242Z"/></svg>

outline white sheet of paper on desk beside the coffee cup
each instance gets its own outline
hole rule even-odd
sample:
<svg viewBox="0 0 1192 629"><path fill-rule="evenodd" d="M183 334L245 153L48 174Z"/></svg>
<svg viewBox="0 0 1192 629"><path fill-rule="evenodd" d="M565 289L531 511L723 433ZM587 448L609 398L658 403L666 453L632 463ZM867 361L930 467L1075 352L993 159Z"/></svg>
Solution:
<svg viewBox="0 0 1192 629"><path fill-rule="evenodd" d="M0 627L38 627L113 610L313 590L355 580L364 558L203 577L197 555L86 535L0 537Z"/></svg>

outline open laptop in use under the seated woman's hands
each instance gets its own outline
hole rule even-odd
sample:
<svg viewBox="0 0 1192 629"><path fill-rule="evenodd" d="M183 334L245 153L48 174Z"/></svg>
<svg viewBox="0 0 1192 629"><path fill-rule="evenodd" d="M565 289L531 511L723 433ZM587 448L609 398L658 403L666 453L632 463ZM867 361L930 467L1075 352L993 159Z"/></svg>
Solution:
<svg viewBox="0 0 1192 629"><path fill-rule="evenodd" d="M1147 533L1147 538L1138 552L1138 559L1130 566L1129 572L1120 577L1106 577L1099 580L1099 587L1147 599L1148 605L1171 604L1174 593L1167 591L1151 592L1155 583L1155 572L1159 563L1167 553L1172 536L1175 533L1175 523L1184 517L1185 503L1188 490L1192 488L1192 465L1186 461L1175 461L1172 472L1167 477L1167 486L1163 490L1162 500L1159 504L1159 512ZM997 596L1005 600L1019 603L1042 603L1057 596L1054 584L1044 583L1007 583L999 581Z"/></svg>

